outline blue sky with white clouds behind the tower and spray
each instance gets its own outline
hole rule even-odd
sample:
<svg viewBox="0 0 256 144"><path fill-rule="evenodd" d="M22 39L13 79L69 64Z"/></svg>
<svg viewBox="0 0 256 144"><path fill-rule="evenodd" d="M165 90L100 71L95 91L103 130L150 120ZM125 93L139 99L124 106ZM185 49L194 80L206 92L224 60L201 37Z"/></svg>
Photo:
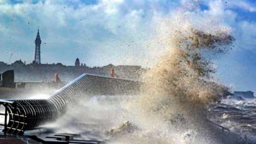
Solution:
<svg viewBox="0 0 256 144"><path fill-rule="evenodd" d="M150 67L161 51L147 43L159 17L189 6L230 27L236 38L232 51L214 60L219 81L256 92L255 0L0 0L0 61L31 63L39 28L42 63L74 65L79 58L90 67Z"/></svg>

